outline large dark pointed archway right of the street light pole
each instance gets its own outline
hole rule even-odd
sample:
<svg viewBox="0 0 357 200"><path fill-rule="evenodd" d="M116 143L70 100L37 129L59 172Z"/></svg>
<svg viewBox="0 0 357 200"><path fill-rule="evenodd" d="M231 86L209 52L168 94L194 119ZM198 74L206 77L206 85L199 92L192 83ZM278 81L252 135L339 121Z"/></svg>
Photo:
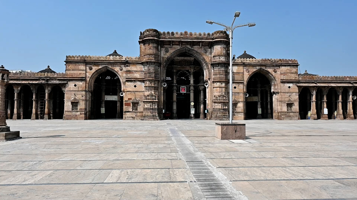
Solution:
<svg viewBox="0 0 357 200"><path fill-rule="evenodd" d="M273 94L269 79L262 73L253 74L247 82L245 119L272 119Z"/></svg>

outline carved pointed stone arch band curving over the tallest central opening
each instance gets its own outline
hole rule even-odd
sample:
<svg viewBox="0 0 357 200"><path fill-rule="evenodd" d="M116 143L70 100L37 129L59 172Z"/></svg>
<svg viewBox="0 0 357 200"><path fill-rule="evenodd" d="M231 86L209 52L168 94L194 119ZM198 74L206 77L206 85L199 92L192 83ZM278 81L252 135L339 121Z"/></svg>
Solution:
<svg viewBox="0 0 357 200"><path fill-rule="evenodd" d="M164 64L162 65L162 72L161 72L161 77L162 79L164 79L165 74L166 74L166 69L167 66L169 65L169 63L177 56L179 56L180 54L186 53L194 58L196 58L198 60L198 62L200 62L200 64L202 65L204 72L205 72L205 79L210 79L211 78L211 70L210 67L206 61L205 58L203 58L203 56L196 51L195 49L189 48L189 47L182 47L180 49L177 49L176 51L172 52L170 54L170 56L168 56L164 62Z"/></svg>

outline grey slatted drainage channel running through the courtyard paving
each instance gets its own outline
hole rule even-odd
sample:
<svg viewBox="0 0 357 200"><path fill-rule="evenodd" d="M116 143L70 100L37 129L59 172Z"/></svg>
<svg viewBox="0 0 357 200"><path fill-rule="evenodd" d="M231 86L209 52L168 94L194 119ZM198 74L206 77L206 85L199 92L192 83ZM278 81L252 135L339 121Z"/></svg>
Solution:
<svg viewBox="0 0 357 200"><path fill-rule="evenodd" d="M207 200L235 200L221 181L212 173L201 158L187 145L176 129L167 123L172 138L190 168L193 177Z"/></svg>

